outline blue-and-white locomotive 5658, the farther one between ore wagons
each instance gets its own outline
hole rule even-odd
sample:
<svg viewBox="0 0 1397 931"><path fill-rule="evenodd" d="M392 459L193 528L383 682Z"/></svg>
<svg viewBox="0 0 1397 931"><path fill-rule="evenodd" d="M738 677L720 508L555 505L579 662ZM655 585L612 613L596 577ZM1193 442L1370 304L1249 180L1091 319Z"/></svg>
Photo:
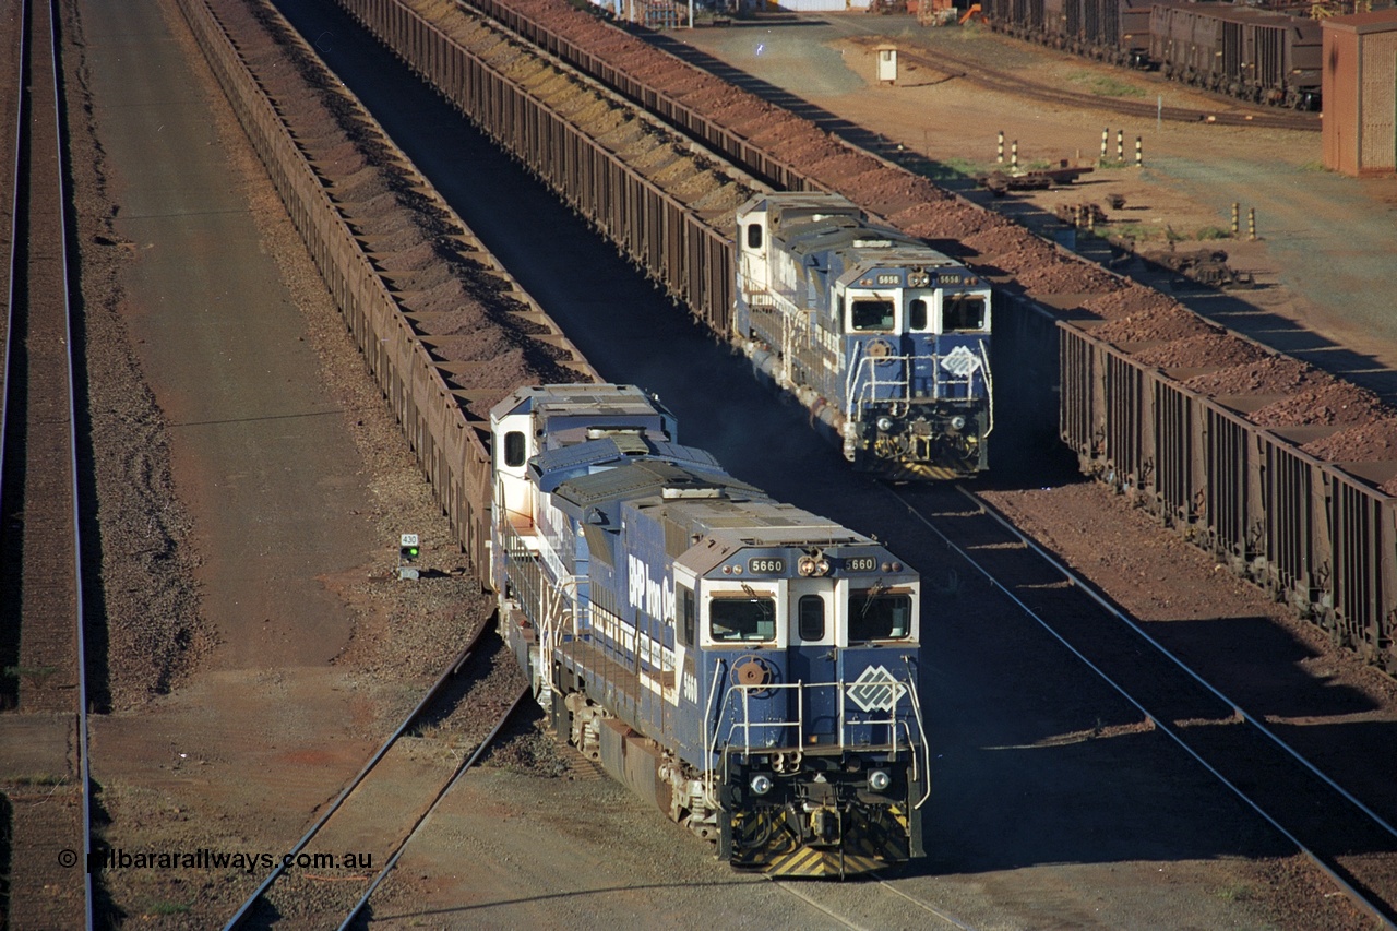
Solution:
<svg viewBox="0 0 1397 931"><path fill-rule="evenodd" d="M738 208L733 341L887 478L988 468L990 287L838 194Z"/></svg>

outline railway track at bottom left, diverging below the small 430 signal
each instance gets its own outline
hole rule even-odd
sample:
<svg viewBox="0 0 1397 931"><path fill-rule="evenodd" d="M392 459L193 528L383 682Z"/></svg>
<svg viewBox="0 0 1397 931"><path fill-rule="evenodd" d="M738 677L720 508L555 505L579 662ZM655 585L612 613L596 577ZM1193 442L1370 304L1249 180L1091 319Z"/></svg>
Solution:
<svg viewBox="0 0 1397 931"><path fill-rule="evenodd" d="M489 630L489 637L482 635ZM513 657L482 626L363 769L228 920L226 931L365 913L398 857L451 786L528 696ZM482 643L483 639L483 643ZM469 705L481 714L462 713ZM450 738L423 739L448 732Z"/></svg>

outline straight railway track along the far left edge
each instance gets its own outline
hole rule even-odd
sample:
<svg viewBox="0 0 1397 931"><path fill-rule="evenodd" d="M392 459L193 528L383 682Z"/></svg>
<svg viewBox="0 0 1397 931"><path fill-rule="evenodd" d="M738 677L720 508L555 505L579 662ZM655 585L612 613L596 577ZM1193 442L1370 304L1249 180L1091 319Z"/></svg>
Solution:
<svg viewBox="0 0 1397 931"><path fill-rule="evenodd" d="M92 800L57 11L20 8L18 106L0 414L0 751L11 805L11 927L92 927ZM68 746L73 746L70 751ZM21 762L22 760L22 762Z"/></svg>

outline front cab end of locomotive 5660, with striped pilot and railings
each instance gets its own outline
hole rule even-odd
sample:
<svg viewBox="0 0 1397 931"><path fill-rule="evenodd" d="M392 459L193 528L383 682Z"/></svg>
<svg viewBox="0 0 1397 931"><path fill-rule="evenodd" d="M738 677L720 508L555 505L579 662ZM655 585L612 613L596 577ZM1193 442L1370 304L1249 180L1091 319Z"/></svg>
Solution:
<svg viewBox="0 0 1397 931"><path fill-rule="evenodd" d="M719 531L675 563L719 856L787 875L921 856L919 582L868 541L778 542Z"/></svg>

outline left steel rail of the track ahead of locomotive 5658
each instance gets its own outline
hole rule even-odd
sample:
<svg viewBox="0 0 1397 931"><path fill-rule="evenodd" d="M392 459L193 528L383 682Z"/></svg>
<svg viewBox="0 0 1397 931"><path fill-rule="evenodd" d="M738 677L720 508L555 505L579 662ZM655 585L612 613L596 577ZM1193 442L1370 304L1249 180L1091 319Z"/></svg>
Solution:
<svg viewBox="0 0 1397 931"><path fill-rule="evenodd" d="M1183 737L1173 727L1169 727L1168 724L1164 723L1162 717L1155 716L1150 709L1147 709L1133 695L1130 695L1130 692L1126 691L1126 688L1123 685L1120 685L1116 679L1113 679L1111 677L1111 674L1108 674L1099 665L1097 665L1095 663L1092 663L1090 658L1087 658L1085 654L1083 654L1080 650L1077 650L1077 647L1074 647L1071 643L1069 643L1067 639L1063 635L1060 635L1053 628L1053 625L1052 625L1051 621L1048 621L1046 618L1044 618L1034 608L1031 608L1030 605L1027 605L1018 596L1016 596L1013 591L1010 591L1009 587L1004 583L1002 583L999 579L996 579L995 575L989 569L986 569L983 565L981 565L974 556L970 555L970 552L965 551L965 548L963 548L961 545L958 545L947 534L944 534L939 527L936 527L936 524L933 524L930 520L928 520L926 516L922 514L919 510L916 510L916 507L909 500L907 500L897 489L886 486L886 485L883 488L884 488L884 491L887 491L888 495L891 495L894 499L897 499L907 509L907 512L912 517L915 517L922 524L925 524L933 534L936 534L937 537L940 537L942 541L950 549L956 551L956 554L961 559L964 559L970 566L972 566L977 572L979 572L985 577L985 580L989 582L989 584L993 589L999 590L1004 597L1007 597L1016 607L1018 607L1020 611L1023 611L1028 618L1031 618L1035 623L1038 623L1038 626L1041 626L1051 637L1053 637L1055 640L1058 640L1058 643L1060 643L1069 653L1071 653L1074 657L1077 657L1077 660L1080 660L1083 665L1085 665L1088 670L1091 670L1102 682L1105 682L1108 686L1111 686L1122 699L1125 699L1132 707L1134 707L1137 712L1140 712L1140 714L1143 714L1148 721L1151 721L1154 724L1155 730L1158 730L1161 734L1164 734L1171 741L1173 741L1175 745L1179 746L1179 749L1182 749L1185 753L1187 753L1196 763L1199 763L1214 779L1217 779L1224 787L1227 787L1228 791L1231 791L1239 801L1242 801L1248 808L1250 808L1257 815L1260 815L1263 821L1266 821L1268 825L1271 825L1271 828L1274 828L1282 837L1285 837L1312 864L1315 864L1322 872L1324 872L1324 875L1327 875L1334 882L1334 885L1338 886L1338 889L1343 890L1345 896L1348 896L1350 902L1352 902L1355 907L1361 909L1365 914L1368 914L1372 918L1375 918L1383 928L1390 928L1393 931L1397 931L1397 924L1394 924L1387 917L1386 911L1379 904L1375 904L1362 892L1359 892L1358 889L1355 889L1347 879L1344 879L1341 875L1338 875L1338 872L1333 867L1330 867L1327 863L1324 863L1324 860L1317 853L1315 853L1313 850L1310 850L1309 846L1306 846L1299 837L1296 837L1289 829L1287 829L1280 821L1277 821L1275 816L1273 816L1270 812L1267 812L1264 808L1261 808L1261 805L1257 804L1256 801L1253 801L1239 786L1236 786L1235 783L1232 783L1227 776L1224 776L1221 772L1218 772L1217 767L1214 767L1211 763L1208 763L1206 759L1203 759L1203 756L1197 751L1194 751L1192 746L1189 746L1189 744L1183 739ZM988 505L985 505L982 500L979 500L978 498L975 498L972 493L967 492L963 486L957 485L956 488L957 488L957 491L960 493L963 493L967 498L970 498L977 506L983 507L986 513L990 512L990 509L988 507ZM1011 530L1011 533L1016 537L1021 538L1021 535L1018 534L1017 530ZM1038 551L1038 549L1035 549L1034 552L1037 555L1041 555L1041 551ZM1052 562L1052 561L1049 561L1049 562L1051 562L1051 565L1053 565L1053 569L1056 569L1058 572L1060 572L1074 587L1077 587L1077 589L1080 589L1083 591L1087 591L1087 593L1091 591L1091 587L1085 583L1084 579L1080 579L1078 576L1076 576L1070 570L1065 569L1060 563L1056 563L1056 562ZM1154 642L1151 640L1151 643L1154 643ZM1155 646L1158 646L1158 644L1155 644ZM1169 658L1173 658L1173 657L1171 656ZM1190 671L1190 674L1192 674L1192 671ZM1217 695L1217 692L1214 692L1214 695ZM1222 696L1220 696L1220 698L1222 698ZM1227 700L1227 699L1224 698L1222 700ZM1236 709L1236 706L1232 705L1231 702L1228 702L1228 705L1231 705L1234 709ZM1345 794L1345 797L1347 797L1347 794ZM1348 798L1351 798L1351 797L1348 797ZM1362 808L1362 811L1366 812L1368 809ZM1377 819L1377 823L1380 826L1383 826L1383 828L1387 828L1386 822L1382 822L1380 819Z"/></svg>

